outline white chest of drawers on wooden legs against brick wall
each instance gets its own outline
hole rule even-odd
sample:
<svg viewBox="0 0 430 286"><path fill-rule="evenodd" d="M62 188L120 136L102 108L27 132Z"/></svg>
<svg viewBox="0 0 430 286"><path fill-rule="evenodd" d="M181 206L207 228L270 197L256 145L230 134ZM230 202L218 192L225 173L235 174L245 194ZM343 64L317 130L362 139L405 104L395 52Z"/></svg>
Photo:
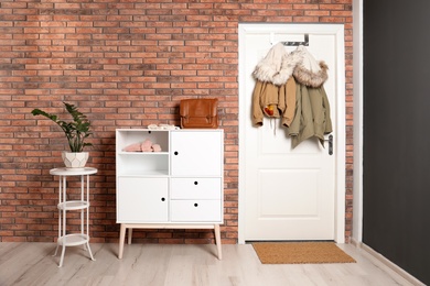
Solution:
<svg viewBox="0 0 430 286"><path fill-rule="evenodd" d="M161 151L125 151L146 140ZM116 160L119 258L137 228L214 229L222 258L223 130L118 129Z"/></svg>

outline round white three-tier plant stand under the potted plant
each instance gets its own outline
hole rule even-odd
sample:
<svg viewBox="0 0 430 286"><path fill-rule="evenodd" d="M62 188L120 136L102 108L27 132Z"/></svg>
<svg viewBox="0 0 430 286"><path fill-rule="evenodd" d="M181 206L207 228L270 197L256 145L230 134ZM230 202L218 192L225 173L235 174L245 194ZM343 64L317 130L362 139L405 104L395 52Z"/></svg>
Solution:
<svg viewBox="0 0 430 286"><path fill-rule="evenodd" d="M84 249L89 252L92 261L95 261L92 249L89 248L89 175L96 174L96 168L53 168L50 170L51 175L58 176L58 239L55 249L54 256L56 255L58 248L62 246L62 255L60 258L58 267L63 266L64 253L66 246L84 245ZM80 199L67 200L67 177L80 176ZM66 232L66 213L68 210L80 210L80 232L67 233Z"/></svg>

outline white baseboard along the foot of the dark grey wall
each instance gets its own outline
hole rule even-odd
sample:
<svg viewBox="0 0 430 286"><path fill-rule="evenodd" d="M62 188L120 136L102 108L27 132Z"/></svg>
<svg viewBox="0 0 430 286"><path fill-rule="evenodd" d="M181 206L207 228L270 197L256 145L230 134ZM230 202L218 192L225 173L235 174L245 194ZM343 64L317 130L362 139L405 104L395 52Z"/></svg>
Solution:
<svg viewBox="0 0 430 286"><path fill-rule="evenodd" d="M351 244L356 246L359 250L363 250L363 252L368 257L370 257L370 260L374 263L378 264L378 266L380 266L384 271L386 271L388 273L390 273L390 272L395 273L396 275L400 276L406 282L410 283L411 285L426 286L426 284L423 284L419 279L417 279L416 277L413 277L412 275L410 275L409 273L407 273L406 271L404 271L402 268L397 266L391 261L387 260L384 255L376 252L375 250L373 250L370 246L366 245L365 243L356 241L354 239L351 239Z"/></svg>

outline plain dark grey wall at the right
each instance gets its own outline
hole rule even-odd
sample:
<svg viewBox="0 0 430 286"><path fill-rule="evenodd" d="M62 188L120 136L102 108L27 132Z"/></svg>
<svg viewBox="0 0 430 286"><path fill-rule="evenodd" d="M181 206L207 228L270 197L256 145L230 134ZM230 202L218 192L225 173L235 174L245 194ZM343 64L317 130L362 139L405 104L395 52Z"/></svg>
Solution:
<svg viewBox="0 0 430 286"><path fill-rule="evenodd" d="M430 1L364 0L363 242L430 284Z"/></svg>

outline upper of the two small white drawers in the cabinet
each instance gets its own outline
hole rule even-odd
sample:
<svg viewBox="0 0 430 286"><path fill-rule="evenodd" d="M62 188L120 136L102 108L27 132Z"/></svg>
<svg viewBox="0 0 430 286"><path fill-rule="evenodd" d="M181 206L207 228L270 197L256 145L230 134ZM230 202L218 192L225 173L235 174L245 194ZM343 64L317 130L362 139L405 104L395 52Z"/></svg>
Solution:
<svg viewBox="0 0 430 286"><path fill-rule="evenodd" d="M221 178L172 178L171 199L221 199Z"/></svg>

